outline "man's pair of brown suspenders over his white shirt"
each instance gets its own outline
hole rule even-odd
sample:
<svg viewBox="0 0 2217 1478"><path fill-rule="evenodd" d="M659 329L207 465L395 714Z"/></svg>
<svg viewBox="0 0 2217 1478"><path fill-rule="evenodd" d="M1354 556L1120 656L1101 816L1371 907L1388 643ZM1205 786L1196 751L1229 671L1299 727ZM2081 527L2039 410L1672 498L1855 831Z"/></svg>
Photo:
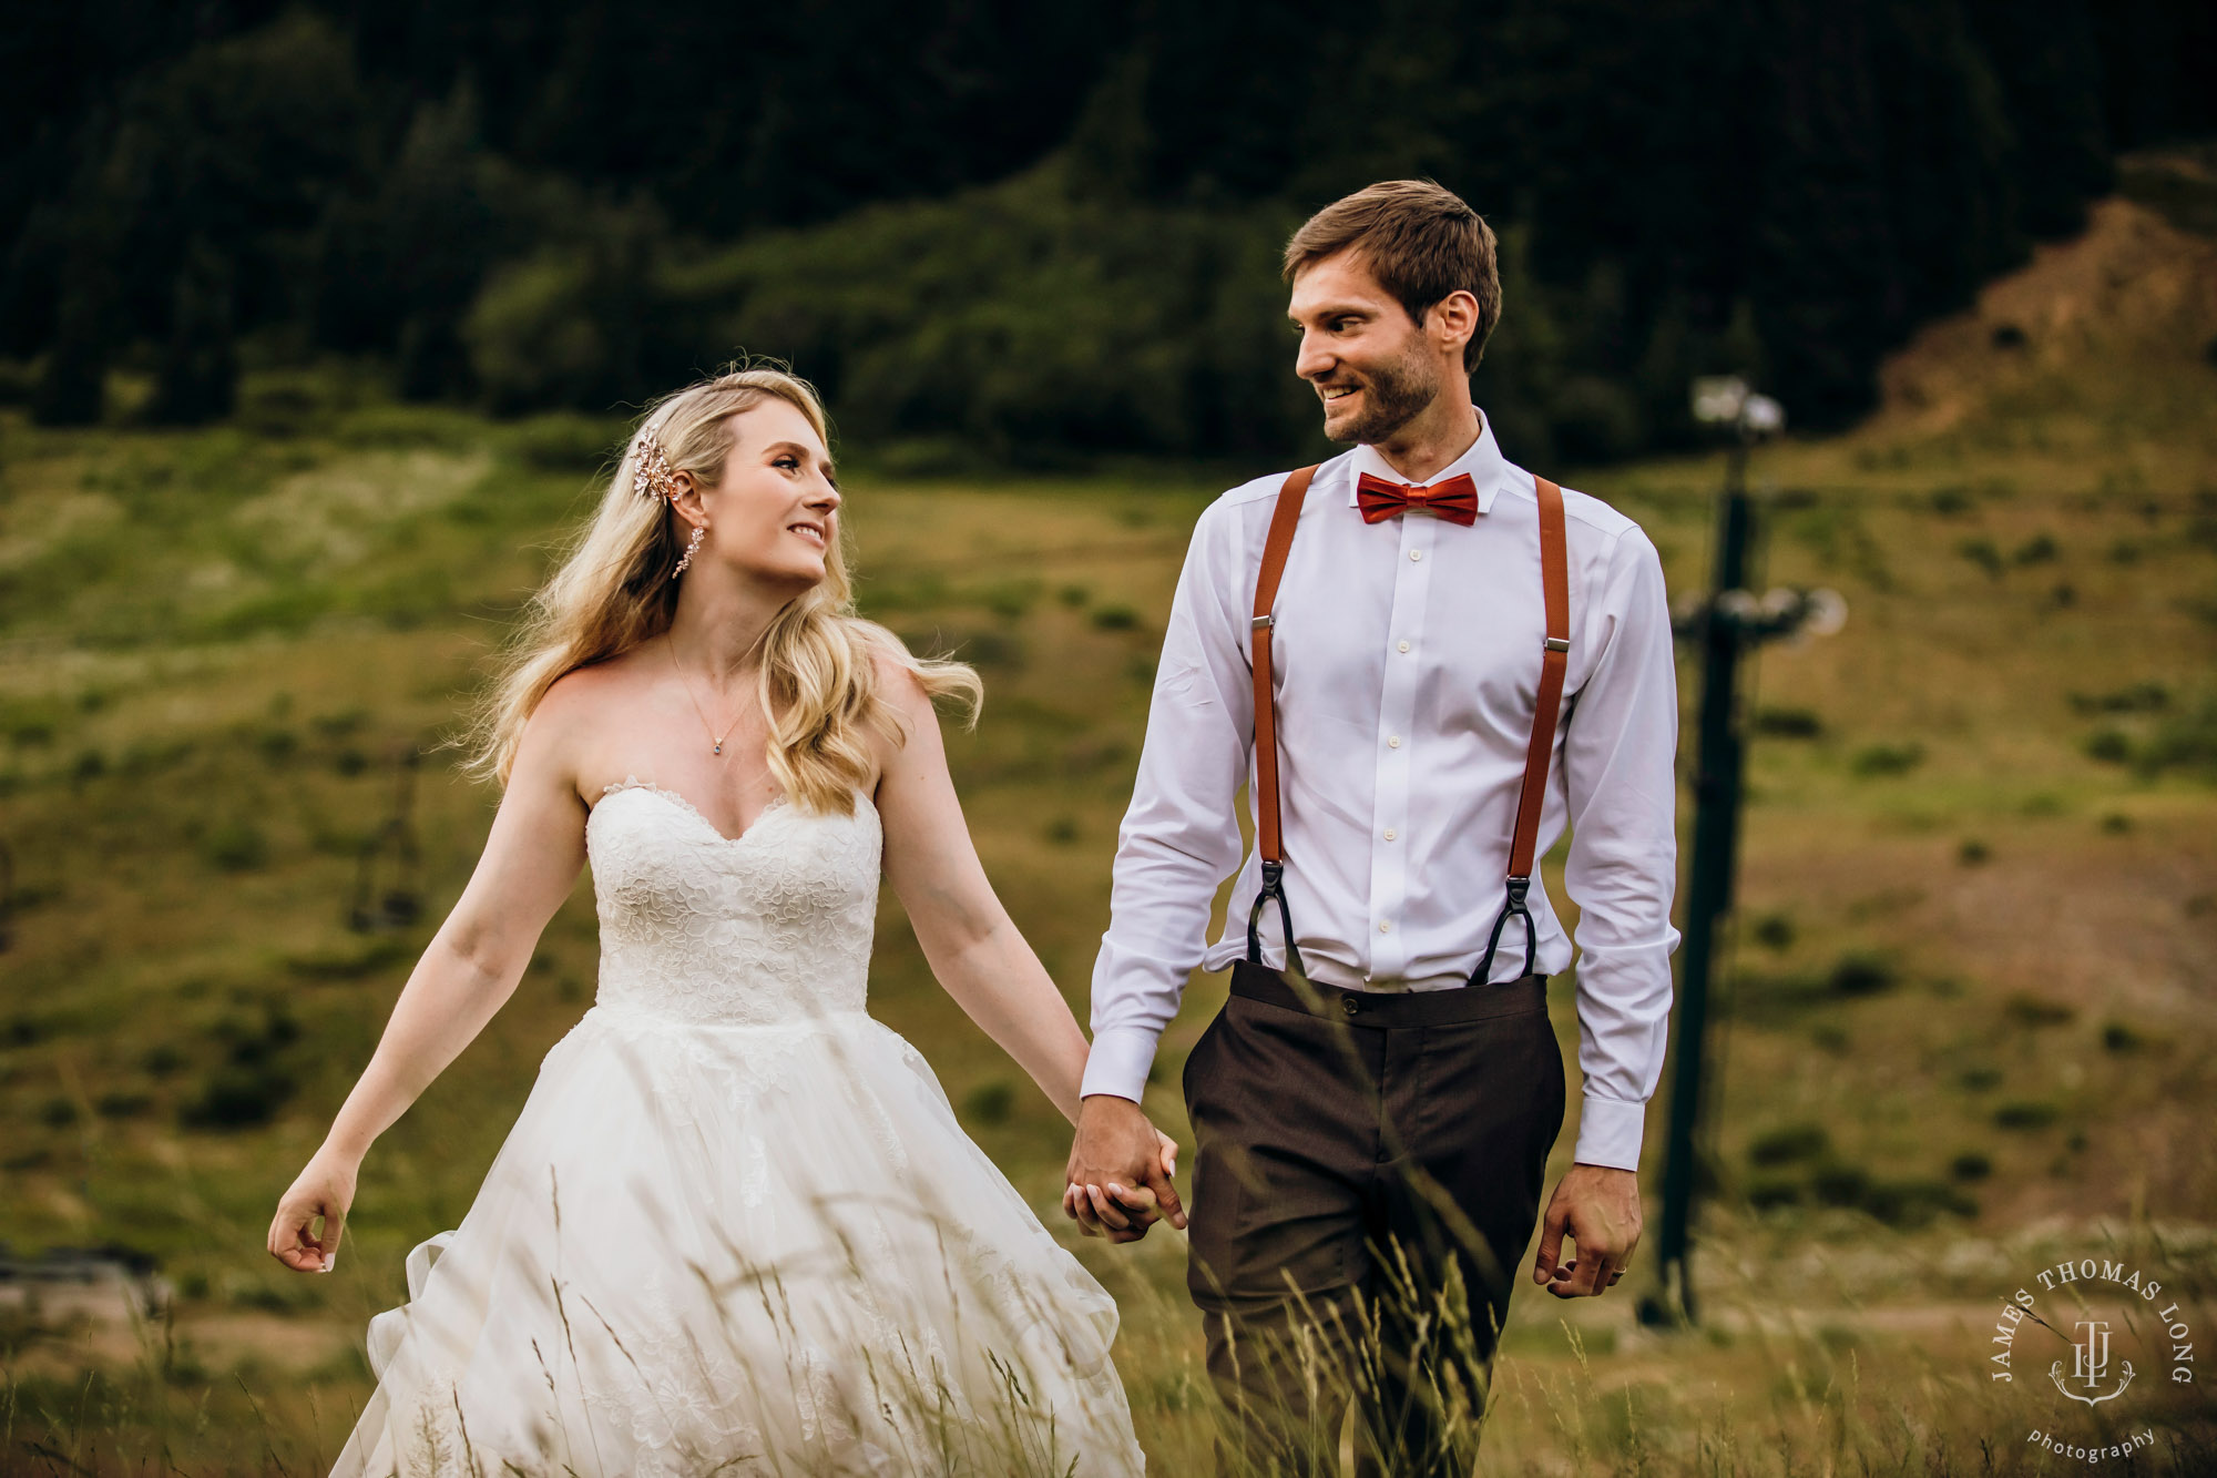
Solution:
<svg viewBox="0 0 2217 1478"><path fill-rule="evenodd" d="M1277 901L1279 925L1286 934L1286 965L1295 974L1301 968L1301 950L1293 943L1293 910L1286 905L1286 852L1279 830L1277 801L1277 701L1270 677L1270 632L1277 626L1270 606L1277 599L1279 579L1286 575L1286 555L1293 550L1293 530L1308 499L1308 484L1317 468L1304 466L1286 477L1277 493L1277 508L1270 513L1270 535L1261 546L1261 573L1255 579L1255 619L1250 648L1255 666L1255 848L1261 854L1261 892L1248 910L1248 961L1261 963L1261 910ZM1525 925L1525 974L1539 952L1539 932L1525 897L1532 890L1532 852L1539 848L1539 812L1547 799L1547 766L1554 757L1554 730L1563 706L1563 675L1570 666L1570 555L1563 533L1563 488L1545 477L1534 477L1539 493L1539 568L1541 588L1547 604L1547 639L1541 648L1539 712L1532 715L1532 743L1525 748L1523 790L1516 797L1516 830L1510 839L1508 899L1494 919L1494 932L1485 941L1485 956L1470 972L1472 985L1483 985L1501 948L1501 930L1510 919L1521 917Z"/></svg>

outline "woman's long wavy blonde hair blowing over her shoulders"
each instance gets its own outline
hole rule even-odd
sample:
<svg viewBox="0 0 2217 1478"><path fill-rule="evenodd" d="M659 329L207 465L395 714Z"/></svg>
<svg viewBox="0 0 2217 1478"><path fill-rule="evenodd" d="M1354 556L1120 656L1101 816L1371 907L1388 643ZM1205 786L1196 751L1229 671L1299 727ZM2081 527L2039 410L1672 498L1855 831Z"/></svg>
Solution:
<svg viewBox="0 0 2217 1478"><path fill-rule="evenodd" d="M670 470L692 473L703 488L723 482L732 422L767 399L783 399L827 446L831 428L816 388L783 366L752 364L692 384L656 402L632 431L601 506L572 541L561 568L532 597L499 677L459 741L463 770L508 783L539 701L561 677L652 641L670 630L678 608L672 575L683 553L681 519L665 497L636 490L641 444L661 446ZM958 699L964 721L978 721L984 686L960 661L916 657L854 608L847 535L825 553L825 577L787 601L760 639L756 697L769 719L769 772L805 810L854 810L854 792L871 777L865 730L907 739L900 715L878 686L878 657L909 670L933 699Z"/></svg>

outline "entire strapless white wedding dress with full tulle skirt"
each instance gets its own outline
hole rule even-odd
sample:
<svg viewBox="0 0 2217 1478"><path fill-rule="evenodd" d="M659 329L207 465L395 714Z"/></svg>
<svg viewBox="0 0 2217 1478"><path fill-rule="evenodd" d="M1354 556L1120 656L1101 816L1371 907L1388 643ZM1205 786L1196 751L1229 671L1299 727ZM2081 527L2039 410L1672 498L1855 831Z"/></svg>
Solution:
<svg viewBox="0 0 2217 1478"><path fill-rule="evenodd" d="M1137 1474L1115 1305L865 1014L878 812L610 786L592 1010L370 1323L335 1474Z"/></svg>

